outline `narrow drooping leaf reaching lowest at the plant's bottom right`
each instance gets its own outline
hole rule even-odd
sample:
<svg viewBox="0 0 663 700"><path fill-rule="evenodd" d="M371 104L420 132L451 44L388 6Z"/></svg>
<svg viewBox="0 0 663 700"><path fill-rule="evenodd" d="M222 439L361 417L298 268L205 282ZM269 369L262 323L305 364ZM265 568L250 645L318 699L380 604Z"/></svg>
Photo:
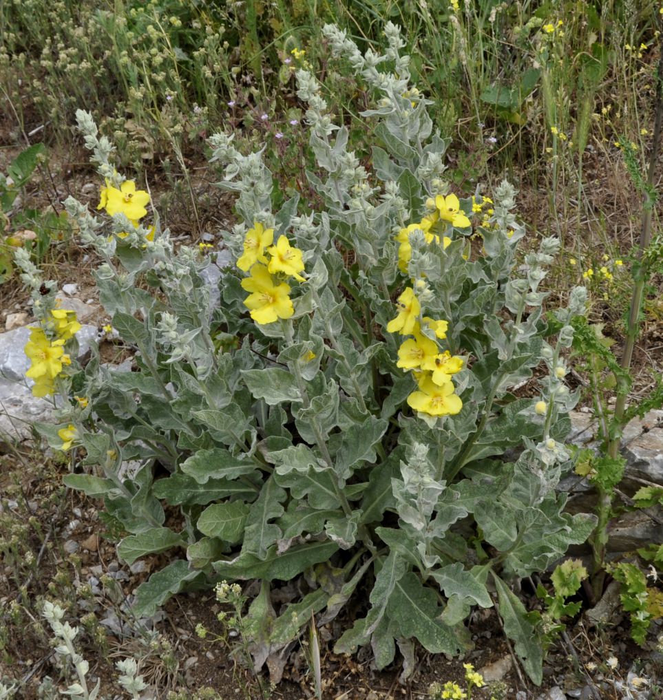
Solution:
<svg viewBox="0 0 663 700"><path fill-rule="evenodd" d="M504 623L504 631L515 643L527 675L536 685L543 680L543 647L536 630L527 619L525 606L519 601L499 576L493 575L497 589L499 613Z"/></svg>

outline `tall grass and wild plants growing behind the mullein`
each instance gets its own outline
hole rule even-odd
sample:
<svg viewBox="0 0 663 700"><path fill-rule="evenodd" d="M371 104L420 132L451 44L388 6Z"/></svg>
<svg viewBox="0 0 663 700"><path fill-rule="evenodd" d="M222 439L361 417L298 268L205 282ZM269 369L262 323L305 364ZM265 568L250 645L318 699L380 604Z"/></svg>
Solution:
<svg viewBox="0 0 663 700"><path fill-rule="evenodd" d="M637 237L641 202L615 144L632 142L644 164L662 5L5 0L2 132L7 144L44 141L71 154L74 111L92 111L120 165L165 176L198 232L207 217L192 170L216 130L236 130L247 147L267 144L281 189L305 188L298 64L324 78L351 126L351 147L368 153L358 114L365 96L337 72L321 27L336 22L365 50L382 45L391 20L403 27L413 80L433 100L436 126L452 138L452 187L472 193L480 185L489 194L503 177L514 182L525 221L560 235L564 260L577 261L559 270L566 287L600 269L605 255L627 255ZM611 298L605 282L589 279Z"/></svg>

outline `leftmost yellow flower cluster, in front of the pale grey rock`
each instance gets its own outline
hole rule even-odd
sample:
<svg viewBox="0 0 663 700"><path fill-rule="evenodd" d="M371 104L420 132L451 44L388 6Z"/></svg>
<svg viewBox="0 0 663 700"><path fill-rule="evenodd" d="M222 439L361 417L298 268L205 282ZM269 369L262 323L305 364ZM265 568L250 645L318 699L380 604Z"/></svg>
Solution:
<svg viewBox="0 0 663 700"><path fill-rule="evenodd" d="M24 350L31 363L25 376L34 379L34 396L55 393L55 378L62 373L64 365L71 364L64 344L79 330L81 324L76 320L76 313L66 309L53 309L43 328L32 328Z"/></svg>

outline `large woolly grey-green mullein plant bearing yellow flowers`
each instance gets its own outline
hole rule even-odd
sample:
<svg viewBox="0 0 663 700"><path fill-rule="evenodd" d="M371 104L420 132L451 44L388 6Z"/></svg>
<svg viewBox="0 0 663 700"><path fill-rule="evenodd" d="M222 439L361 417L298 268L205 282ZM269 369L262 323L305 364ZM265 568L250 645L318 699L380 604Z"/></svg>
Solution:
<svg viewBox="0 0 663 700"><path fill-rule="evenodd" d="M512 584L594 526L565 514L555 492L572 466L564 438L577 395L564 352L585 289L543 316L559 242L517 256L525 230L506 182L492 200L449 190L447 142L410 83L398 27L386 25L384 54L362 54L333 26L325 35L336 69L372 100L370 158L348 151L305 69L319 207L294 195L274 211L263 151L214 134L218 186L237 195L239 218L223 232L235 265L220 304L204 282L209 251L176 248L158 220L150 236L122 206L109 218L65 202L102 260L99 295L135 371L109 370L95 349L85 367L71 360L78 399L41 430L73 451L65 483L103 498L104 522L128 533L124 561L169 551L137 589L137 615L183 589L258 579L247 629L259 669L312 615L326 624L368 590L365 616L335 649L370 645L384 668L396 642L410 656L414 640L468 650L470 611L496 605L540 682L543 631ZM109 188L140 190L123 190L90 115L77 120L108 213ZM539 393L519 398L528 380ZM121 469L130 460L133 472ZM167 525L165 507L181 517ZM275 607L272 590L302 576L307 592Z"/></svg>

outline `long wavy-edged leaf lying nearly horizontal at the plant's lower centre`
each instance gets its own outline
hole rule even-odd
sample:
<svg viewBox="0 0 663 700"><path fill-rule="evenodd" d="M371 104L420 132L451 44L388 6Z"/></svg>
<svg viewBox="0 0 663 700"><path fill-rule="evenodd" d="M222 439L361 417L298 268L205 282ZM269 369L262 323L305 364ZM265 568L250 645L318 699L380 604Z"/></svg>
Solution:
<svg viewBox="0 0 663 700"><path fill-rule="evenodd" d="M249 580L264 578L267 581L289 581L303 570L327 561L338 551L334 542L311 542L298 547L291 547L279 554L277 547L270 547L264 560L255 554L242 552L234 559L215 561L212 566L221 578Z"/></svg>

